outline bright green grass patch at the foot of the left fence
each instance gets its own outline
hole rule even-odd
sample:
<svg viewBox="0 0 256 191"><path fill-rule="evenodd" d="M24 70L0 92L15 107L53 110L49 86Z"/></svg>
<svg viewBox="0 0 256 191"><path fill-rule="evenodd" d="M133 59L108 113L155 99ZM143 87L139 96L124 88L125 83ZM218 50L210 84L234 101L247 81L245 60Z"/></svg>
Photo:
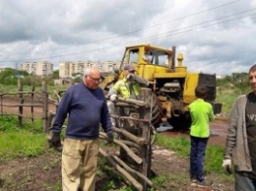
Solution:
<svg viewBox="0 0 256 191"><path fill-rule="evenodd" d="M46 135L42 132L40 121L34 127L26 122L24 128L17 128L15 117L0 117L0 159L15 159L19 157L32 157L42 154L47 143Z"/></svg>

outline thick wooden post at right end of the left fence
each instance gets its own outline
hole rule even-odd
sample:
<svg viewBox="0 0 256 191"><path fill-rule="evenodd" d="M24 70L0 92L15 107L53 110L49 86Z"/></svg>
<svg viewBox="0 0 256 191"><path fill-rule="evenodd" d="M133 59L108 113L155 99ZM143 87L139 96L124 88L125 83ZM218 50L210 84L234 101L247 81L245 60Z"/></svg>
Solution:
<svg viewBox="0 0 256 191"><path fill-rule="evenodd" d="M42 81L42 122L43 122L43 131L48 132L48 93L47 85L45 81Z"/></svg>

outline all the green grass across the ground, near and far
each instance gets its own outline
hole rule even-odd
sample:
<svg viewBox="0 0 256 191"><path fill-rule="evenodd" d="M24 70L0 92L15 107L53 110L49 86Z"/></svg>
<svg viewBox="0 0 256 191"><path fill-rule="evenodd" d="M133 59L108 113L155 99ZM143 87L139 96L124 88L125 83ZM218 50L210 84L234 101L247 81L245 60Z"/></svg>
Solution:
<svg viewBox="0 0 256 191"><path fill-rule="evenodd" d="M8 86L7 86L8 87ZM49 87L49 92L52 90L64 90L63 87ZM24 91L31 91L31 87L24 87ZM40 91L40 89L35 91ZM17 92L17 86L9 87L4 92ZM223 102L224 113L228 113L234 99L241 95L238 89L221 88L218 92L217 100ZM40 121L36 121L32 127L31 121L26 121L22 129L17 128L17 118L14 117L0 117L0 160L16 159L19 157L34 157L41 155L46 151L47 142L46 135L42 132L42 125ZM158 135L157 145L163 146L169 150L174 151L179 158L189 159L190 142L186 138L166 138ZM219 146L208 146L205 159L206 173L216 173L222 180L230 181L231 176L224 175L222 168L224 148ZM102 173L101 170L108 171L107 176L111 177L111 181L105 182L102 185L102 190L114 190L116 184L120 182L122 177L116 172L111 171L104 165L100 166L97 173ZM102 169L102 166L104 169ZM45 166L50 167L50 166ZM175 174L160 174L160 176L153 178L153 182L160 186L167 181L179 181L181 177ZM60 185L56 185L60 187ZM51 189L45 183L45 189ZM132 187L124 185L120 190L129 191L134 190Z"/></svg>

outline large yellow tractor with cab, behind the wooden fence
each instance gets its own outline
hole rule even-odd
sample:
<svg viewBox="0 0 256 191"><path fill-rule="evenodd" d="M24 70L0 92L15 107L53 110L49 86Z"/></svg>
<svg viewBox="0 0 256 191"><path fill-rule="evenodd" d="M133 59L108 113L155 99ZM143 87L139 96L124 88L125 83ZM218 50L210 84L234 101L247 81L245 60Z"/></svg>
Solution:
<svg viewBox="0 0 256 191"><path fill-rule="evenodd" d="M151 44L127 46L119 71L106 76L101 88L123 78L125 64L133 64L136 74L150 82L153 92L152 123L156 128L160 123L171 124L174 128L187 129L191 123L188 105L195 100L195 88L198 85L208 87L206 100L212 103L215 113L221 113L222 103L216 102L216 75L190 73L183 66L183 55L177 56L175 65L175 47L167 49Z"/></svg>

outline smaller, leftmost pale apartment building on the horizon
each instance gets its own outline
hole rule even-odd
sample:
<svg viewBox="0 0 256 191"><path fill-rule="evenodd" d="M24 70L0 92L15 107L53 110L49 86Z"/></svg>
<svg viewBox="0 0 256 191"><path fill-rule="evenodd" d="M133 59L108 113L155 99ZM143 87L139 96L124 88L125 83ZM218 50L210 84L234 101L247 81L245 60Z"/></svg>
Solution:
<svg viewBox="0 0 256 191"><path fill-rule="evenodd" d="M47 61L26 62L21 64L22 70L36 76L48 76L53 73L53 64Z"/></svg>

